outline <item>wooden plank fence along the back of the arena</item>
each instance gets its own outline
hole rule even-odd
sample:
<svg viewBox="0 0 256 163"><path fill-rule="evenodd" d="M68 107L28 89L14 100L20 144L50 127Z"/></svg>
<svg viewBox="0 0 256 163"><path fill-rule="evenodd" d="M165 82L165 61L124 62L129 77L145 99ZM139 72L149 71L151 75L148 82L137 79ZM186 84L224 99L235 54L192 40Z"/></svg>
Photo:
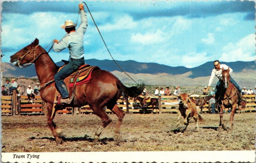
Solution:
<svg viewBox="0 0 256 163"><path fill-rule="evenodd" d="M16 94L16 93L15 93ZM196 95L195 95L196 96ZM199 95L197 95L199 96ZM41 96L35 96L36 99L31 103L28 101L28 96L21 95L17 96L2 96L1 109L2 115L43 115L46 114L46 104L43 102ZM202 96L201 96L202 97ZM254 112L256 107L255 95L245 95L247 98L247 104L245 112ZM143 110L140 106L139 101L134 102L134 98L128 98L124 101L123 97L117 100L117 106L124 110L126 113L142 113ZM153 98L153 97L151 97ZM155 113L177 113L178 112L178 100L176 96L159 96L158 109L154 109ZM206 103L203 108L203 112L208 112L209 104ZM199 106L197 106L198 111L200 112ZM228 110L228 108L226 108ZM237 107L238 110L238 107ZM113 114L113 112L105 108L106 113ZM151 113L152 106L148 106L148 113ZM92 109L86 105L81 108L66 107L62 110L57 110L56 115L76 115L76 114L93 114Z"/></svg>

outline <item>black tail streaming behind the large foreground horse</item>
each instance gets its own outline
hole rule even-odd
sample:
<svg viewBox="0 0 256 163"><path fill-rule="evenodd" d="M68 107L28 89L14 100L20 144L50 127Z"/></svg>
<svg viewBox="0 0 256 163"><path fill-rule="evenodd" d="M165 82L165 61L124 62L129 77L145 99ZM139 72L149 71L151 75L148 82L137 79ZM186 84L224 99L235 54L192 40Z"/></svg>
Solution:
<svg viewBox="0 0 256 163"><path fill-rule="evenodd" d="M143 89L145 88L145 85L143 83L138 84L137 86L126 87L120 80L117 82L117 85L119 85L120 90L124 92L124 95L129 97L139 96L143 92Z"/></svg>

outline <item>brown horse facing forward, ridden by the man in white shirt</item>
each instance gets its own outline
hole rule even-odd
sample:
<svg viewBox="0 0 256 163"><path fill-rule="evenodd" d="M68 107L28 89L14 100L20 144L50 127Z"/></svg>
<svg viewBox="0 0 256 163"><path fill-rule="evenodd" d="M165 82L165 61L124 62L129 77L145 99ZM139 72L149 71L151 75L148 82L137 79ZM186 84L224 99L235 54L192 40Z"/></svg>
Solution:
<svg viewBox="0 0 256 163"><path fill-rule="evenodd" d="M223 122L223 110L231 107L231 114L229 117L230 129L233 129L233 120L236 113L236 104L238 102L238 92L235 86L230 83L230 74L228 70L222 68L222 80L219 88L219 98L217 99L218 112L220 114L220 124L224 130L227 130Z"/></svg>

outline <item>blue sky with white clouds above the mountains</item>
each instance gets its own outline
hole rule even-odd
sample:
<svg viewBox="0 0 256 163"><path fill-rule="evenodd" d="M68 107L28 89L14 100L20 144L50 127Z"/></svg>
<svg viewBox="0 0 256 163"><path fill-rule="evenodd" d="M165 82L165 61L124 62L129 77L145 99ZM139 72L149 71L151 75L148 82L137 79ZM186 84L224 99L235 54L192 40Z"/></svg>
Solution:
<svg viewBox="0 0 256 163"><path fill-rule="evenodd" d="M65 20L80 23L79 2L3 2L3 62L35 38L45 48L66 33ZM115 60L197 67L209 61L255 60L253 1L86 1ZM88 27L84 58L108 59L100 34L85 7ZM47 47L46 50L50 48ZM68 60L68 49L50 51L54 62Z"/></svg>

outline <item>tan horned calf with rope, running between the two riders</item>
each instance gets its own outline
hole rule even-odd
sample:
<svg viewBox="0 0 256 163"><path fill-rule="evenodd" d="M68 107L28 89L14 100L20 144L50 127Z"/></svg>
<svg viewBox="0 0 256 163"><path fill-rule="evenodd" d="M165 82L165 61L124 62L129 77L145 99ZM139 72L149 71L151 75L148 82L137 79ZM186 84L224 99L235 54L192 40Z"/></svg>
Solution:
<svg viewBox="0 0 256 163"><path fill-rule="evenodd" d="M193 93L192 93L193 94ZM184 124L186 125L185 131L188 127L189 120L193 117L196 122L196 132L199 131L199 124L203 121L203 117L197 112L196 104L189 98L191 94L182 93L178 95L180 103L179 103L179 111L178 111L178 118L177 118L177 127L180 126L180 115L184 117ZM199 121L199 122L198 122Z"/></svg>

